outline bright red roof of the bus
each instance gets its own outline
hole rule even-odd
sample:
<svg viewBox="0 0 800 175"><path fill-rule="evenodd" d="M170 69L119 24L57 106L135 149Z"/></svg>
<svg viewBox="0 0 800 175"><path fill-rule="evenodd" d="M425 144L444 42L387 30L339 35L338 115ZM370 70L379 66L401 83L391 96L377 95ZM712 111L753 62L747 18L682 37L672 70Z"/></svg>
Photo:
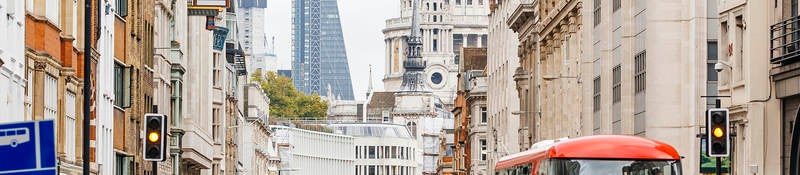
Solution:
<svg viewBox="0 0 800 175"><path fill-rule="evenodd" d="M679 160L680 155L669 144L653 139L627 135L595 135L568 139L544 149L505 156L499 159L495 169L545 158Z"/></svg>

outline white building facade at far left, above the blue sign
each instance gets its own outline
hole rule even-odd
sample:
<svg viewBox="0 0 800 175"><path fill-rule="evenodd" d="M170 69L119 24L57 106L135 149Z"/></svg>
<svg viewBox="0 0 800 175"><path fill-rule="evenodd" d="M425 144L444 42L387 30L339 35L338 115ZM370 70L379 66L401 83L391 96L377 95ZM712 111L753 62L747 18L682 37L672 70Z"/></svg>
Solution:
<svg viewBox="0 0 800 175"><path fill-rule="evenodd" d="M30 120L25 113L25 1L0 2L0 123Z"/></svg>

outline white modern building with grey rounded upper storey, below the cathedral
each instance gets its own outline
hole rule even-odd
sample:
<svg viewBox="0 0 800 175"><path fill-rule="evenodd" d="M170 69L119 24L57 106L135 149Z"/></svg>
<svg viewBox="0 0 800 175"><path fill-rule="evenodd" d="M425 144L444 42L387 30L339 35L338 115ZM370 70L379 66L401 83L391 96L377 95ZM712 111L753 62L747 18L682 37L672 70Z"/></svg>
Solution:
<svg viewBox="0 0 800 175"><path fill-rule="evenodd" d="M330 124L334 133L355 138L355 174L416 174L417 143L403 125L382 123Z"/></svg>

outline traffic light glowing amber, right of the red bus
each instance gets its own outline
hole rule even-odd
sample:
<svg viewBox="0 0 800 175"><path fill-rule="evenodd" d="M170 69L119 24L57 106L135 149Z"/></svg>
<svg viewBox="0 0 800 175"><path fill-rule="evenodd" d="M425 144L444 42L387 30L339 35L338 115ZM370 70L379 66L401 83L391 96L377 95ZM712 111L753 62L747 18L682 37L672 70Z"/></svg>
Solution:
<svg viewBox="0 0 800 175"><path fill-rule="evenodd" d="M727 157L731 148L728 109L709 109L706 117L708 156Z"/></svg>

